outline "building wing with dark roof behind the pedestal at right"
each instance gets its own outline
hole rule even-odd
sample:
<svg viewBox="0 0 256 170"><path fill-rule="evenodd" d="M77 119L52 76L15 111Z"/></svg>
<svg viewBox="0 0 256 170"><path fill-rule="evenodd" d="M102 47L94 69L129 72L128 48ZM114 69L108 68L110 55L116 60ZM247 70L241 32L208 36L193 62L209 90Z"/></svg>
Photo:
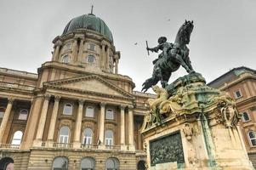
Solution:
<svg viewBox="0 0 256 170"><path fill-rule="evenodd" d="M256 167L256 71L244 66L234 68L208 85L225 91L236 100L242 116L240 127L244 144Z"/></svg>

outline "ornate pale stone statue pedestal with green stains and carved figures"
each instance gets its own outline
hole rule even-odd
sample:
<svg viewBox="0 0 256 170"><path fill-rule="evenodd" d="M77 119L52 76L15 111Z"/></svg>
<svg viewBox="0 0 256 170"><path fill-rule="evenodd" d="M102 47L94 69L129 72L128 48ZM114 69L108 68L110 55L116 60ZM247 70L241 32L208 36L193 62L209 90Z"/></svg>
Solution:
<svg viewBox="0 0 256 170"><path fill-rule="evenodd" d="M153 89L158 98L141 129L148 169L253 169L229 96L198 73Z"/></svg>

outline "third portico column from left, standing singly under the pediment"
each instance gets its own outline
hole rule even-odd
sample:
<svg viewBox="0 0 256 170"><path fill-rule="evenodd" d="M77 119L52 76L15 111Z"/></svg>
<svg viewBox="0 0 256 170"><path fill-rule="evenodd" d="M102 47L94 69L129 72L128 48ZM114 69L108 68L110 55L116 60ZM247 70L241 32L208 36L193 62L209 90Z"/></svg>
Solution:
<svg viewBox="0 0 256 170"><path fill-rule="evenodd" d="M81 147L81 126L82 126L82 107L84 100L79 99L78 101L78 111L77 111L77 120L76 120L76 127L75 127L75 135L74 135L74 148L80 148Z"/></svg>

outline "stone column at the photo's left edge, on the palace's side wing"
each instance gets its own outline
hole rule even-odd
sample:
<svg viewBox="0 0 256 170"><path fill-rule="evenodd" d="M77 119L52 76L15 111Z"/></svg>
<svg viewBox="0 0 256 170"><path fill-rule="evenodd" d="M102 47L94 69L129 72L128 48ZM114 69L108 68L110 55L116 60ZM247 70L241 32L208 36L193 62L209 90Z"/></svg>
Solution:
<svg viewBox="0 0 256 170"><path fill-rule="evenodd" d="M3 120L1 122L1 126L0 126L0 144L3 142L3 135L4 135L4 132L5 132L5 128L7 126L7 123L9 121L9 116L10 116L10 113L12 111L12 107L13 107L13 103L14 103L14 99L8 99L8 105L6 107L6 110L4 112L4 115L3 115Z"/></svg>

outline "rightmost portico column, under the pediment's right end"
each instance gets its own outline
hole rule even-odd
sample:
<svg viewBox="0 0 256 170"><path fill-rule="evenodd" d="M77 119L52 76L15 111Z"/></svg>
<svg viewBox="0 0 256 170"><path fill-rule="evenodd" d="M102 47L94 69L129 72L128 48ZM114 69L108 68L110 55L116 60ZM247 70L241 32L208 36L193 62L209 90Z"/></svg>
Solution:
<svg viewBox="0 0 256 170"><path fill-rule="evenodd" d="M134 147L134 106L128 106L128 144L129 150L135 150Z"/></svg>

